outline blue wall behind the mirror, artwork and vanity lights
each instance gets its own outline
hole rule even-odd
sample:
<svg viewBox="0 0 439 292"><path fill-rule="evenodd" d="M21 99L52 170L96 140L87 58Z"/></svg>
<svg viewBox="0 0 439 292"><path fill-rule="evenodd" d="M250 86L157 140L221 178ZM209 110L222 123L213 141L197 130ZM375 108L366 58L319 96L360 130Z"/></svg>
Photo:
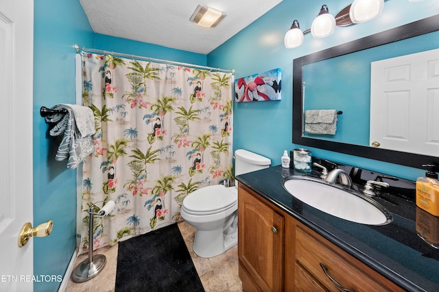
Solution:
<svg viewBox="0 0 439 292"><path fill-rule="evenodd" d="M349 0L324 1L329 12L337 12L349 5ZM235 103L233 147L246 148L272 159L272 165L281 163L283 150L292 150L300 145L292 144L292 67L293 59L334 47L357 38L411 23L439 14L439 1L408 0L385 1L383 13L378 18L351 25L337 27L332 36L314 39L305 35L304 44L296 49L285 49L283 37L294 19L298 19L302 30L309 29L321 4L305 1L284 0L270 12L230 38L222 46L209 53L207 63L212 67L235 69L235 79L264 72L272 68L282 69L282 100L255 103ZM384 163L351 155L311 148L313 155L354 164L362 168L377 170L395 176L416 180L425 171L401 165Z"/></svg>

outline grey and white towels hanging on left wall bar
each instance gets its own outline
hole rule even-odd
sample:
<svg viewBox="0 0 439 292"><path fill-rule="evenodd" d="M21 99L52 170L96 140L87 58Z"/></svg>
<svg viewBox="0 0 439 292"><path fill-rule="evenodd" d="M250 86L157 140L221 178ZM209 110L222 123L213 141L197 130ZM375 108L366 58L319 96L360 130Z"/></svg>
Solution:
<svg viewBox="0 0 439 292"><path fill-rule="evenodd" d="M95 116L89 107L82 105L60 104L54 110L66 109L67 114L51 114L46 122L57 124L49 131L51 136L64 135L55 159L69 159L67 168L74 169L95 151L91 135L95 133Z"/></svg>

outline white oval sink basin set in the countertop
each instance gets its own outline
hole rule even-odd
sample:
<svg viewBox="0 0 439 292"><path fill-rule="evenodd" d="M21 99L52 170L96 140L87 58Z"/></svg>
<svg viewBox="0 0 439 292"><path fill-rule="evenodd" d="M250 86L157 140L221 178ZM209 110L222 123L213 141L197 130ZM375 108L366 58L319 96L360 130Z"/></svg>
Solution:
<svg viewBox="0 0 439 292"><path fill-rule="evenodd" d="M381 204L339 185L307 176L292 176L283 187L305 204L344 220L369 225L392 222L392 215Z"/></svg>

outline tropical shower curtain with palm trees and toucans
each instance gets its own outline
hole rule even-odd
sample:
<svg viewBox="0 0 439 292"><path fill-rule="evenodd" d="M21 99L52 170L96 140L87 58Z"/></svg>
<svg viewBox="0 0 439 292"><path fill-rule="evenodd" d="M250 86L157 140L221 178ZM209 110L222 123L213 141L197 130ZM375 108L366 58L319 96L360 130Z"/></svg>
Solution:
<svg viewBox="0 0 439 292"><path fill-rule="evenodd" d="M82 52L82 98L95 115L95 152L82 166L80 252L181 220L195 189L233 181L232 73Z"/></svg>

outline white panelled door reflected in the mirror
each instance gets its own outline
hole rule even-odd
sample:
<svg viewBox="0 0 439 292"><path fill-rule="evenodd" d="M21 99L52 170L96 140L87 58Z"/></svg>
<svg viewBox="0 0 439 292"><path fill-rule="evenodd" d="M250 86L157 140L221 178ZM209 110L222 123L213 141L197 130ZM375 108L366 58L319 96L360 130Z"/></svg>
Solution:
<svg viewBox="0 0 439 292"><path fill-rule="evenodd" d="M439 49L372 62L370 146L439 155Z"/></svg>

